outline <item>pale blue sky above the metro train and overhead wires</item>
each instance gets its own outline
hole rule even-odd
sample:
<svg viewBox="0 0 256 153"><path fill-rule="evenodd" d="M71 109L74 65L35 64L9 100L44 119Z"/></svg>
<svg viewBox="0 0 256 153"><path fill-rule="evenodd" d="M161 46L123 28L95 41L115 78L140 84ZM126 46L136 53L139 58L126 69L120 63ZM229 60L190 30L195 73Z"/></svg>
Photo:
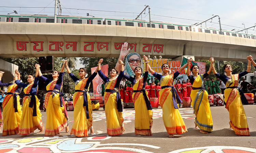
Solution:
<svg viewBox="0 0 256 153"><path fill-rule="evenodd" d="M33 3L31 3L31 0L12 0L1 1L0 6L46 7L49 4L47 7L54 7L54 3L55 2L53 0L33 1ZM62 15L86 16L86 13L89 13L95 17L102 18L135 19L137 15L145 8L144 5L150 5L152 21L164 21L191 25L196 22L207 20L214 14L221 17L222 29L236 29L235 31L242 30L244 28L242 23L245 24L245 28L252 27L256 23L255 0L60 0L60 4L62 6ZM72 10L66 8L101 11ZM11 7L0 7L0 14L11 13L13 10L16 10L18 14L54 15L54 8L43 9ZM145 11L145 14L142 15L142 19L149 21L148 9ZM212 22L215 23L208 22L206 26L219 29L219 25L217 23L218 18L214 18ZM225 26L224 24L230 26ZM202 26L205 26L205 23L203 23ZM252 28L252 30L248 30L248 33L256 34L256 29L253 30ZM78 64L78 67L81 66Z"/></svg>

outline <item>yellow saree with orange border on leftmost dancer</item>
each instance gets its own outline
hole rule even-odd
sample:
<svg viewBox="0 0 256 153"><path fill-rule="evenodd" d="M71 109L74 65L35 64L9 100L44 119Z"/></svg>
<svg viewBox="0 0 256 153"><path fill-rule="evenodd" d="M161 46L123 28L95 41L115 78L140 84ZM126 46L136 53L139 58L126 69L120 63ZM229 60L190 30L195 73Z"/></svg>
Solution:
<svg viewBox="0 0 256 153"><path fill-rule="evenodd" d="M7 92L12 92L18 88L17 84L10 85ZM22 116L21 107L19 105L19 96L17 95L17 109L13 108L14 95L6 95L3 100L3 133L2 136L19 134L19 123Z"/></svg>

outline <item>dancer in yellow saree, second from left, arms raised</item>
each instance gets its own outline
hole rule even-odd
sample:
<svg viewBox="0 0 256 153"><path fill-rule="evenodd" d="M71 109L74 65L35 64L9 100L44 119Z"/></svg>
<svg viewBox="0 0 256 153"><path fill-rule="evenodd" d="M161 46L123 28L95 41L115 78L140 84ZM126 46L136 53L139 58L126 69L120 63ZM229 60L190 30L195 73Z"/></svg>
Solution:
<svg viewBox="0 0 256 153"><path fill-rule="evenodd" d="M39 133L43 133L44 126L42 122L42 114L39 109L40 102L35 96L38 89L38 77L34 74L28 74L29 84L21 83L17 77L18 71L15 74L15 83L19 87L24 88L25 97L23 98L22 117L19 124L19 134L28 135L33 133L34 130L40 130ZM36 71L38 74L38 71Z"/></svg>

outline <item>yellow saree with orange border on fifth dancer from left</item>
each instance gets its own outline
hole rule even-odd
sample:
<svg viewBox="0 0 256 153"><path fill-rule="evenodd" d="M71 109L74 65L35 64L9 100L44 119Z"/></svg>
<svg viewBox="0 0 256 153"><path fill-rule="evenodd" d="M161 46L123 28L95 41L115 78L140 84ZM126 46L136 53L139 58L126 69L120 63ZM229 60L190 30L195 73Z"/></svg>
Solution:
<svg viewBox="0 0 256 153"><path fill-rule="evenodd" d="M105 83L105 89L115 90L117 78ZM107 123L107 133L111 136L123 133L123 112L117 110L117 97L116 92L104 93L105 114Z"/></svg>

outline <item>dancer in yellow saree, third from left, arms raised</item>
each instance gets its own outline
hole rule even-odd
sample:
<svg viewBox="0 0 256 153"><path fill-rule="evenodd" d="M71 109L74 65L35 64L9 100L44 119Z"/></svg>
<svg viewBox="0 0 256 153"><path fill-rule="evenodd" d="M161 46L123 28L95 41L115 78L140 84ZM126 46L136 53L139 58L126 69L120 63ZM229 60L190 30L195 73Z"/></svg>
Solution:
<svg viewBox="0 0 256 153"><path fill-rule="evenodd" d="M39 72L39 78L42 82L47 83L46 86L47 93L45 95L44 105L46 108L46 124L45 124L45 136L55 136L60 133L61 130L66 128L66 133L69 132L68 129L68 114L65 107L64 99L62 98L63 93L61 92L62 88L62 79L63 71L65 69L65 63L67 60L64 60L61 70L53 71L52 77L53 80L45 78L40 70L40 65L36 64L37 71ZM38 77L37 75L35 77Z"/></svg>

